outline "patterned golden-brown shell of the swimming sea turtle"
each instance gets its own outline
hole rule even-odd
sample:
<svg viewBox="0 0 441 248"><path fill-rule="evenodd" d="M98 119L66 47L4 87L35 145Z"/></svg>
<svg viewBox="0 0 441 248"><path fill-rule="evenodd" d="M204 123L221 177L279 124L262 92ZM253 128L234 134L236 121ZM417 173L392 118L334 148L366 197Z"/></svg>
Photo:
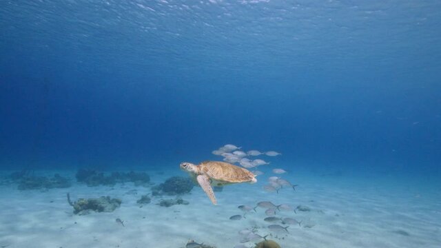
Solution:
<svg viewBox="0 0 441 248"><path fill-rule="evenodd" d="M214 180L225 183L249 182L254 174L247 169L220 161L204 161L199 164L201 172Z"/></svg>

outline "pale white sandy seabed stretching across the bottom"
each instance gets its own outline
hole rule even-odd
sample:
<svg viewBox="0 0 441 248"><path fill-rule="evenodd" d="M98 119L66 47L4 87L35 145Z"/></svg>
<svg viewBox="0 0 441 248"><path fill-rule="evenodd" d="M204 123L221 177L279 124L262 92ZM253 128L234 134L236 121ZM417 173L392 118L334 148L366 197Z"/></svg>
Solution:
<svg viewBox="0 0 441 248"><path fill-rule="evenodd" d="M60 173L74 176L74 172ZM185 176L179 170L171 173ZM154 182L161 183L170 174L151 173L151 176ZM223 192L216 193L217 206L209 202L199 187L183 196L189 205L159 207L156 203L160 198L153 198L152 203L140 208L136 200L141 194L149 193L150 188L134 187L131 183L114 188L74 183L68 189L47 192L19 191L17 185L0 185L0 247L178 248L185 247L188 239L194 239L229 248L240 244L238 231L252 226L259 227L258 234L272 234L270 238L284 248L441 247L439 187L387 176L304 173L280 175L300 186L296 192L285 188L276 194L262 189L268 176L274 174L259 176L255 185L225 187ZM138 189L138 194L125 194L131 189ZM67 203L67 192L72 200L108 195L121 198L123 204L112 213L76 216ZM241 214L238 205L254 206L260 200L293 207L307 205L311 211L278 213L278 216L302 220L303 227L292 225L288 228L289 234L276 234L266 228L270 224L263 221L265 209L247 214L242 220L229 220L230 216ZM116 223L116 218L124 220L125 227ZM305 225L314 226L305 228ZM252 247L253 243L245 245Z"/></svg>

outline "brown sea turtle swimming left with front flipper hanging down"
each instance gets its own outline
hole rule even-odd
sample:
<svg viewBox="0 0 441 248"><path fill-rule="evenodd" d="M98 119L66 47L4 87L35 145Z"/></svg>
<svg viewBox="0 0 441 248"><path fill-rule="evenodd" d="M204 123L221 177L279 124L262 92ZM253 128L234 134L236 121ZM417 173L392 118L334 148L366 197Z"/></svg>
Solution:
<svg viewBox="0 0 441 248"><path fill-rule="evenodd" d="M252 172L220 161L204 161L199 165L181 163L181 169L187 171L194 180L201 185L212 203L216 205L213 186L223 186L231 183L256 183L257 179Z"/></svg>

